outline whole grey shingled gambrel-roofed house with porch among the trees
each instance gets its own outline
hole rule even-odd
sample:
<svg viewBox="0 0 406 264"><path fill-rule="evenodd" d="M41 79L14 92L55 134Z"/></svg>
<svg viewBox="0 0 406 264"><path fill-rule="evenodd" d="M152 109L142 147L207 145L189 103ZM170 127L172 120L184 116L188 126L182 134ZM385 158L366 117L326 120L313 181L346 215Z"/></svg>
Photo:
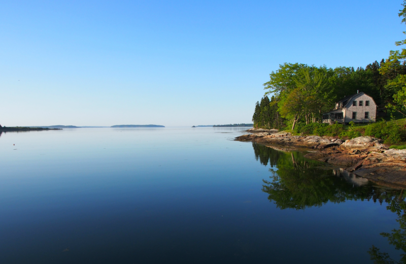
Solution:
<svg viewBox="0 0 406 264"><path fill-rule="evenodd" d="M323 123L366 123L375 122L377 104L374 99L363 93L355 93L335 103L334 110L323 114Z"/></svg>

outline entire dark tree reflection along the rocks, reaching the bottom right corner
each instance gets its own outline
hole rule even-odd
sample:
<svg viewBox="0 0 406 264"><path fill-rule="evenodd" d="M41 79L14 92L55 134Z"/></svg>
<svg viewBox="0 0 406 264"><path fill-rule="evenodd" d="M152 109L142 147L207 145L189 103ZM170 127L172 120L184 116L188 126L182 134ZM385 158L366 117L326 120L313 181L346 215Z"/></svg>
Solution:
<svg viewBox="0 0 406 264"><path fill-rule="evenodd" d="M371 260L379 264L406 264L406 202L403 190L376 186L363 178L343 170L332 170L324 162L310 160L300 152L283 152L253 143L255 158L264 166L270 165L270 180L263 180L262 191L268 200L280 209L305 209L322 206L328 202L342 203L347 200L373 200L387 203L387 210L397 214L400 229L392 233L381 233L389 244L402 250L401 259L393 260L374 245L368 253Z"/></svg>

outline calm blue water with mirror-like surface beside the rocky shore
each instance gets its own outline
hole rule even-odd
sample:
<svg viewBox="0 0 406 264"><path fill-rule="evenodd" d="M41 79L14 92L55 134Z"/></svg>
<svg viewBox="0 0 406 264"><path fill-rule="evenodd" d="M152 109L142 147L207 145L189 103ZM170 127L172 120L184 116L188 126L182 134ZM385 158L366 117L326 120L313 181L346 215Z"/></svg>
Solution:
<svg viewBox="0 0 406 264"><path fill-rule="evenodd" d="M0 262L373 263L373 245L400 259L401 190L232 141L241 130L1 134Z"/></svg>

